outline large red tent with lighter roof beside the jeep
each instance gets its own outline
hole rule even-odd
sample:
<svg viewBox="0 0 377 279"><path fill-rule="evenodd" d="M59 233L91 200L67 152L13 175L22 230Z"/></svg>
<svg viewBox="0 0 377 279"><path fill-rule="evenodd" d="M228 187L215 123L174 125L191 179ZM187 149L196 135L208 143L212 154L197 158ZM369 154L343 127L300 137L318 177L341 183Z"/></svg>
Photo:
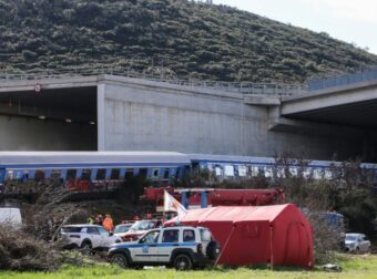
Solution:
<svg viewBox="0 0 377 279"><path fill-rule="evenodd" d="M211 229L222 247L217 265L314 266L312 227L293 204L193 209L180 223Z"/></svg>

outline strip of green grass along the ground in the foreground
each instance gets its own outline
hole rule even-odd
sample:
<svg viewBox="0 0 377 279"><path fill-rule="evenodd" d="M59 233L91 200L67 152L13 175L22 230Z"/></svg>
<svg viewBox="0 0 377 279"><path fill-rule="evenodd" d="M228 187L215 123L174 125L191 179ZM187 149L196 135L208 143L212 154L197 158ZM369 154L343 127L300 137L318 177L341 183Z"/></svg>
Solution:
<svg viewBox="0 0 377 279"><path fill-rule="evenodd" d="M215 268L214 270L200 270L177 272L173 269L153 268L150 270L123 270L106 265L74 268L65 267L58 272L2 272L0 278L37 279L37 278L377 278L377 256L342 256L339 264L343 272L326 272L320 267L314 270L296 268Z"/></svg>

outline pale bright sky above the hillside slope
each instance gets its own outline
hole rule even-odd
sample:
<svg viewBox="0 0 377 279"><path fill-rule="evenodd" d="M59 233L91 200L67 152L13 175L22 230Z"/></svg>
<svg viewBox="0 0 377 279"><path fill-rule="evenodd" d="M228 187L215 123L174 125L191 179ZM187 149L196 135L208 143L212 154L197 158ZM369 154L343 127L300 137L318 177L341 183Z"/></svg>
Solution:
<svg viewBox="0 0 377 279"><path fill-rule="evenodd" d="M213 0L284 23L326 32L377 54L377 0Z"/></svg>

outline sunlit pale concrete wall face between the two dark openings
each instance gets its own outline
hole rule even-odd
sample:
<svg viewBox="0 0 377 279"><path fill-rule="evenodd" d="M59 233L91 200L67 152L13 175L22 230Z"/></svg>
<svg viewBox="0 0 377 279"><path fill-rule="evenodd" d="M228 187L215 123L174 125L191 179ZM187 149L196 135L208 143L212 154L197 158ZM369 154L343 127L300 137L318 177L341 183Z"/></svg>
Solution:
<svg viewBox="0 0 377 279"><path fill-rule="evenodd" d="M255 153L265 142L266 111L233 96L105 85L104 149Z"/></svg>

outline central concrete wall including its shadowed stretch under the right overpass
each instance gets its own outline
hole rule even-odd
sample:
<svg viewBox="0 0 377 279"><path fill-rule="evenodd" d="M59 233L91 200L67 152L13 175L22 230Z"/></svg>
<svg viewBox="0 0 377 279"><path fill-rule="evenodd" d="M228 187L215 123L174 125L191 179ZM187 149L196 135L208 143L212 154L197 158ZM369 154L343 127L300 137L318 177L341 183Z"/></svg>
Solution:
<svg viewBox="0 0 377 279"><path fill-rule="evenodd" d="M269 108L244 104L241 94L150 85L103 85L100 149L248 156L292 151L318 159L337 152L337 137L268 131Z"/></svg>

